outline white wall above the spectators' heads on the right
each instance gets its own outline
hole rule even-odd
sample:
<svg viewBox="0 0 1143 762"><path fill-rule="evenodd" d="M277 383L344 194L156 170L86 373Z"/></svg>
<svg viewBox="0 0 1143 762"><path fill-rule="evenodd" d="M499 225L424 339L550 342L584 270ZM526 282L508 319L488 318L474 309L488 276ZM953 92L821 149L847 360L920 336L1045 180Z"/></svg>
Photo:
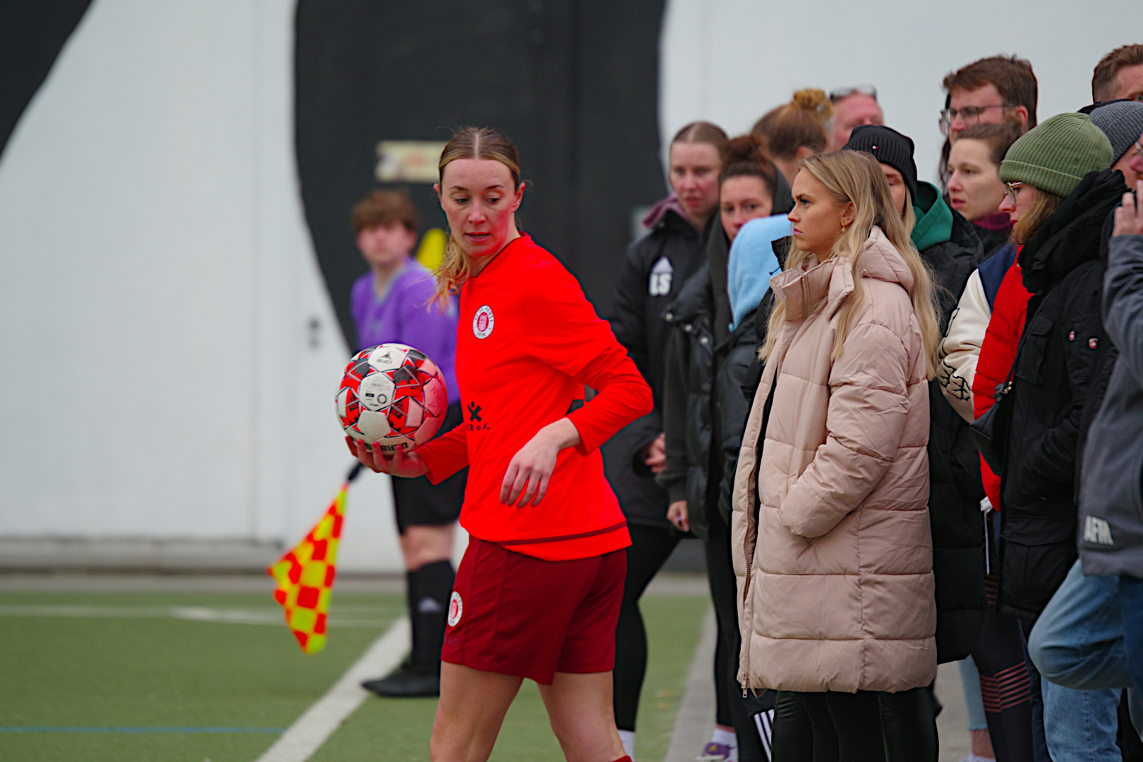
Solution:
<svg viewBox="0 0 1143 762"><path fill-rule="evenodd" d="M984 56L1018 54L1039 80L1044 121L1092 102L1096 62L1143 42L1141 19L1133 0L670 0L661 133L665 144L688 121L708 119L742 134L796 89L871 83L886 123L917 144L921 178L935 179L946 73Z"/></svg>

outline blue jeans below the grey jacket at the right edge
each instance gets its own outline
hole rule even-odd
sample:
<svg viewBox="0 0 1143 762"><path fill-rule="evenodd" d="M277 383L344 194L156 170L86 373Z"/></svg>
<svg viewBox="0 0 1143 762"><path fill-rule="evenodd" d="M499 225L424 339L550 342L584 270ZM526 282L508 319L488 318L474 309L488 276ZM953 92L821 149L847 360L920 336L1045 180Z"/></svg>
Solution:
<svg viewBox="0 0 1143 762"><path fill-rule="evenodd" d="M1055 762L1120 760L1117 708L1133 685L1124 641L1119 578L1085 577L1077 561L1028 641L1044 692L1044 727ZM1138 693L1132 714L1143 719Z"/></svg>

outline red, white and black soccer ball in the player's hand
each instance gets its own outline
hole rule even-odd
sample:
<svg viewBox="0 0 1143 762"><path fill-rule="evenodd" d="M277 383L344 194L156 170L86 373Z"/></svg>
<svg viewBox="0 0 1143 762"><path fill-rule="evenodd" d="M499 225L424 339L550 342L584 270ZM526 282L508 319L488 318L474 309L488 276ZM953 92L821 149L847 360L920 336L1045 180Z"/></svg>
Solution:
<svg viewBox="0 0 1143 762"><path fill-rule="evenodd" d="M448 409L445 377L424 352L405 344L362 350L345 366L337 418L355 440L408 451L433 438Z"/></svg>

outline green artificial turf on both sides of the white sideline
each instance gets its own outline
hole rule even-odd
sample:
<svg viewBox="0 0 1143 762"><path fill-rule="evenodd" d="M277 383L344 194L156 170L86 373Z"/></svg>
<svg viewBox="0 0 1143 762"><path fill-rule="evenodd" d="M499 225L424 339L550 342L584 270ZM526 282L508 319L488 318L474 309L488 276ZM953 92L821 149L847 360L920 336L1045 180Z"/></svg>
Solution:
<svg viewBox="0 0 1143 762"><path fill-rule="evenodd" d="M269 593L0 593L0 728L286 728L403 608L399 595L335 593L328 645L306 657ZM642 601L650 661L640 762L666 752L708 608L705 596ZM279 624L181 619L171 610ZM370 697L313 759L426 761L435 705ZM253 762L277 737L0 732L0 760ZM535 683L525 681L491 759L562 759Z"/></svg>

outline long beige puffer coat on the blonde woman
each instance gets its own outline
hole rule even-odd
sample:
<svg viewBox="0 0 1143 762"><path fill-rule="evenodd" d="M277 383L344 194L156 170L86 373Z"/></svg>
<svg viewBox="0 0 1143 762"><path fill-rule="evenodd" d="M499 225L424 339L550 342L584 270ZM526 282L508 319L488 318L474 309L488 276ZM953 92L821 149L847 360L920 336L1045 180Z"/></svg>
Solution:
<svg viewBox="0 0 1143 762"><path fill-rule="evenodd" d="M837 361L849 259L810 257L770 279L786 322L742 439L732 518L744 687L898 691L936 677L928 384L913 279L879 227L860 265L864 303Z"/></svg>

